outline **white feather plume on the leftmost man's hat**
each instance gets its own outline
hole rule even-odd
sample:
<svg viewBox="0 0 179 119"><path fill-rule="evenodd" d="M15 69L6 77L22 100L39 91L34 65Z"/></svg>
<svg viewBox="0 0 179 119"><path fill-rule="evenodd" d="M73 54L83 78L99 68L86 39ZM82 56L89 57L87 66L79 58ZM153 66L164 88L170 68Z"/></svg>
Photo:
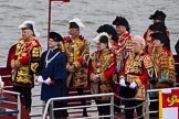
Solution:
<svg viewBox="0 0 179 119"><path fill-rule="evenodd" d="M25 29L25 28L28 26L28 24L31 24L31 25L33 26L33 30L32 30L32 31L33 31L34 35L35 35L36 37L39 37L39 36L40 36L40 33L36 32L35 22L34 22L34 21L27 20L27 21L24 21L22 24L20 24L20 25L18 26L18 29Z"/></svg>

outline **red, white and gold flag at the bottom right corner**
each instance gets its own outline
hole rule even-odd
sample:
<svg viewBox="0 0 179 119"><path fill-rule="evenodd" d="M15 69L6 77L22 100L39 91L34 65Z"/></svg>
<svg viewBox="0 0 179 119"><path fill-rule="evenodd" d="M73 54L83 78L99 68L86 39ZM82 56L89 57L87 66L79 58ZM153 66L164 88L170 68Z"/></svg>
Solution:
<svg viewBox="0 0 179 119"><path fill-rule="evenodd" d="M159 119L179 119L179 88L159 90Z"/></svg>

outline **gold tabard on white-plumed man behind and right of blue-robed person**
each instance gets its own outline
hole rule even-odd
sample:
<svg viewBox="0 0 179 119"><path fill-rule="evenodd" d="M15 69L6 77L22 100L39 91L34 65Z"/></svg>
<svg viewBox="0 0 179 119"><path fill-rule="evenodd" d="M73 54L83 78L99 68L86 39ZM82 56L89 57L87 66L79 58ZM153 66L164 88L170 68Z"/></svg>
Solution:
<svg viewBox="0 0 179 119"><path fill-rule="evenodd" d="M75 66L75 73L71 73L67 77L67 87L73 86L76 88L87 87L87 67L81 64L78 61L81 57L85 57L90 54L90 47L87 41L80 35L75 40L72 40L70 36L64 37L64 51L67 55L67 66ZM72 85L71 85L72 83Z"/></svg>

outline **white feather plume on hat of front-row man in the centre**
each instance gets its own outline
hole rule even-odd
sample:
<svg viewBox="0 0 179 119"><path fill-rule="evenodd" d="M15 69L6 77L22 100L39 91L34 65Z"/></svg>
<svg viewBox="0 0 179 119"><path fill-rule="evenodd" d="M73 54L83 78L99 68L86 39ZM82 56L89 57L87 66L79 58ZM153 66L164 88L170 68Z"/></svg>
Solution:
<svg viewBox="0 0 179 119"><path fill-rule="evenodd" d="M96 37L93 39L93 41L94 41L95 43L99 43L99 40L101 40L102 36L107 36L107 39L108 39L108 43L107 43L107 44L108 44L108 47L112 48L112 44L110 44L110 42L109 42L109 35L108 35L106 32L98 33L98 34L96 35Z"/></svg>

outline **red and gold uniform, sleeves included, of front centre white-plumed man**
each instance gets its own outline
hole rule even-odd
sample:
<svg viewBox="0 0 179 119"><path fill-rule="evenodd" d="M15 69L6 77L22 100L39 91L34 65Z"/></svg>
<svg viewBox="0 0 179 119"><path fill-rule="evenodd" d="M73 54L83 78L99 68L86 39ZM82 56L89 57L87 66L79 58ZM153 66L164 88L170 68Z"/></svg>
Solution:
<svg viewBox="0 0 179 119"><path fill-rule="evenodd" d="M113 93L113 75L116 71L116 57L114 53L106 48L102 52L94 52L90 60L90 77L99 75L99 82L91 83L93 94ZM101 101L108 101L109 97L97 98Z"/></svg>

